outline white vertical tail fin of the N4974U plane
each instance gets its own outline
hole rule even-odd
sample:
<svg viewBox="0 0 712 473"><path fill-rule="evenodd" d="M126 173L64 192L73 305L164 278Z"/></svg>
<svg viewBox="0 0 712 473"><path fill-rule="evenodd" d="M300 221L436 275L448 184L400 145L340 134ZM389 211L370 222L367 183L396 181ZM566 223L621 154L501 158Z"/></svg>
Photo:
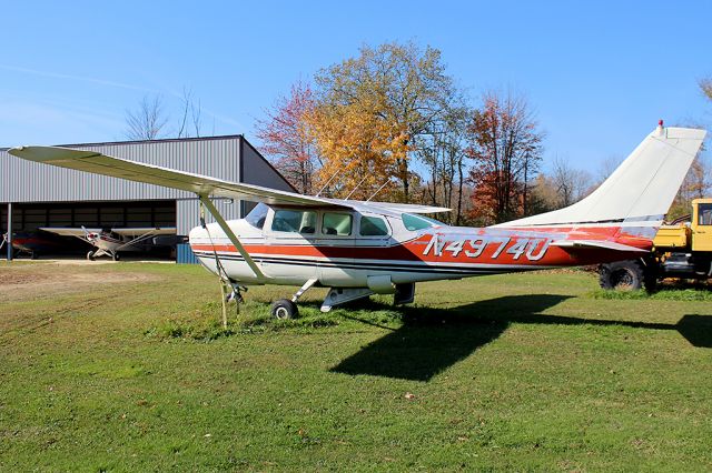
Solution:
<svg viewBox="0 0 712 473"><path fill-rule="evenodd" d="M564 209L496 227L647 222L660 225L706 131L657 127L593 193ZM654 223L656 222L656 223Z"/></svg>

